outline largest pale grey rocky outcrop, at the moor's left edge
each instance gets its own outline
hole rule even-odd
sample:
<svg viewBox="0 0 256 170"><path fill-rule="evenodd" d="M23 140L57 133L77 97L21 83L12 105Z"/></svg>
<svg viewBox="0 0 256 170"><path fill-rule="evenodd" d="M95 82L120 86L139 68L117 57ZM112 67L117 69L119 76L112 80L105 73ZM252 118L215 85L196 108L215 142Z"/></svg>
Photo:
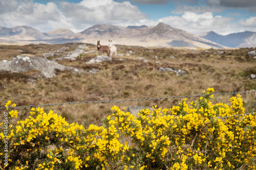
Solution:
<svg viewBox="0 0 256 170"><path fill-rule="evenodd" d="M10 72L26 72L31 70L39 71L38 77L51 78L56 76L56 70L70 70L74 73L82 73L83 70L79 70L70 66L64 66L54 61L49 61L45 58L31 56L31 55L20 55L14 57L12 61L3 60L0 61L0 71Z"/></svg>

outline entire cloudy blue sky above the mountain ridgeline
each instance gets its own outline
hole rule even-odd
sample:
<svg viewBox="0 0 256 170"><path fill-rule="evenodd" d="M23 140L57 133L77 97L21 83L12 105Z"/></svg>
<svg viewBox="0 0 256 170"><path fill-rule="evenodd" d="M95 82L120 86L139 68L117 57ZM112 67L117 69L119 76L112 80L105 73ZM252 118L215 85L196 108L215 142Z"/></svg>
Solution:
<svg viewBox="0 0 256 170"><path fill-rule="evenodd" d="M0 0L0 26L81 32L96 24L156 26L190 33L256 32L255 0Z"/></svg>

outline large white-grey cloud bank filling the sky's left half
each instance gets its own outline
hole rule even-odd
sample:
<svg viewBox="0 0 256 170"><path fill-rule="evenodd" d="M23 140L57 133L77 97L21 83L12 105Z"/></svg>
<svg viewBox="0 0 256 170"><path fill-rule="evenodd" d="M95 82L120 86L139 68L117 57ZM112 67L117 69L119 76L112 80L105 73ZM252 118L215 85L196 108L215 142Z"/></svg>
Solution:
<svg viewBox="0 0 256 170"><path fill-rule="evenodd" d="M31 0L1 0L0 22L4 27L31 26L39 31L69 28L79 32L95 24L116 24L127 20L146 19L129 1L83 0L78 4L49 2L46 5ZM5 9L5 10L4 10Z"/></svg>

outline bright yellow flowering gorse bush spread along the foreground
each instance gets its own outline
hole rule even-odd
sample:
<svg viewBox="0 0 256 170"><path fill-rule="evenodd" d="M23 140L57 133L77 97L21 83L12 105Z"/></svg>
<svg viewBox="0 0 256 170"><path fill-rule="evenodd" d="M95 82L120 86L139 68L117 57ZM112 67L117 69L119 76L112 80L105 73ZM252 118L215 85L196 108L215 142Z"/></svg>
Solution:
<svg viewBox="0 0 256 170"><path fill-rule="evenodd" d="M198 101L134 116L112 107L103 126L68 124L42 108L1 131L1 169L256 169L256 115L245 114L240 95L230 106L212 104L213 88ZM6 107L13 106L8 101Z"/></svg>

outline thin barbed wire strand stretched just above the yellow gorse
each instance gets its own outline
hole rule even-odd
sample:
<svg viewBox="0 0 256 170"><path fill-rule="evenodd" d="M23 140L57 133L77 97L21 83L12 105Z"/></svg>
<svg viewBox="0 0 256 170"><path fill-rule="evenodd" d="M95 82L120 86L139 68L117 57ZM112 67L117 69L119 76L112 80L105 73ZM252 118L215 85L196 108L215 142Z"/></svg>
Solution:
<svg viewBox="0 0 256 170"><path fill-rule="evenodd" d="M175 98L190 98L190 97L197 97L197 96L206 96L206 95L226 95L226 94L247 94L247 93L255 93L255 91L250 91L250 92L240 92L240 93L211 93L211 94L198 94L198 95L184 95L184 96L172 96L172 97L164 97L164 98L143 98L143 99L130 99L130 100L122 100L122 101L94 101L94 102L90 102L90 101L84 101L84 102L69 102L69 103L55 103L55 104L43 104L43 105L29 105L29 106L17 106L17 107L0 107L0 109L13 109L13 108L28 108L28 107L41 107L41 106L53 106L53 105L73 105L73 104L91 104L91 103L122 103L122 102L134 102L134 101L144 101L144 100L162 100L162 99L175 99Z"/></svg>

